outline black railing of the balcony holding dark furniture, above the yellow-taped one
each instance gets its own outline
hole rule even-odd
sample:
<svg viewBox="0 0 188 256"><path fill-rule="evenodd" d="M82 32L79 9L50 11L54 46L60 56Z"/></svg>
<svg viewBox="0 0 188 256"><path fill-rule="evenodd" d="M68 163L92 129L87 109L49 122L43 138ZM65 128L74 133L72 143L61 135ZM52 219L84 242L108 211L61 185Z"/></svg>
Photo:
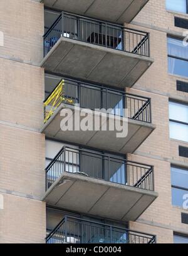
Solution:
<svg viewBox="0 0 188 256"><path fill-rule="evenodd" d="M150 56L149 33L65 12L60 14L43 36L44 56L61 36L136 55Z"/></svg>

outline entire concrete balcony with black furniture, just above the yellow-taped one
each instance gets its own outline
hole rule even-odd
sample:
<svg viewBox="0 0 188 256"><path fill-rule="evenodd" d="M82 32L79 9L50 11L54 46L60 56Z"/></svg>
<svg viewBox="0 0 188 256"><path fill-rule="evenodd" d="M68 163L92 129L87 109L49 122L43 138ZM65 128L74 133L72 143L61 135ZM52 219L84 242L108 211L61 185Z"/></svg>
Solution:
<svg viewBox="0 0 188 256"><path fill-rule="evenodd" d="M150 67L149 34L62 13L44 35L41 67L112 87L132 87Z"/></svg>

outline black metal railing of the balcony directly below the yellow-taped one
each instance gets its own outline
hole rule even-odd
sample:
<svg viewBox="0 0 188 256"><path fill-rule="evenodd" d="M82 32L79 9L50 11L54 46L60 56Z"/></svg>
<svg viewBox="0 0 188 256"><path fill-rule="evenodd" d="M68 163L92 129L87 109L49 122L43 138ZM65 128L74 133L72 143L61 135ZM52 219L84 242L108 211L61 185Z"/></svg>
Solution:
<svg viewBox="0 0 188 256"><path fill-rule="evenodd" d="M101 152L64 146L46 167L46 190L63 172L154 191L154 168Z"/></svg>

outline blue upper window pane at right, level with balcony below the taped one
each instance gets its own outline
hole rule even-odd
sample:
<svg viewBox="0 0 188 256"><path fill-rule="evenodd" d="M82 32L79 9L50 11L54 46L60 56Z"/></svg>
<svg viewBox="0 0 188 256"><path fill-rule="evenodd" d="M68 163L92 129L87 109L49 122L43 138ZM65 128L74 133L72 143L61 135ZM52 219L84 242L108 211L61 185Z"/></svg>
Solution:
<svg viewBox="0 0 188 256"><path fill-rule="evenodd" d="M174 186L188 189L188 169L171 167L171 182Z"/></svg>

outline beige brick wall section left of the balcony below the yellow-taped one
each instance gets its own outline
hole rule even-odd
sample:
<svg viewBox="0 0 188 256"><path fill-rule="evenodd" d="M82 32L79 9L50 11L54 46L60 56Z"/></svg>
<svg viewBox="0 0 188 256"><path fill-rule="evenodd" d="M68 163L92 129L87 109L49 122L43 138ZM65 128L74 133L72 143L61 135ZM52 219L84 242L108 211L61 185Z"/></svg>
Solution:
<svg viewBox="0 0 188 256"><path fill-rule="evenodd" d="M0 189L41 198L45 185L44 135L0 124Z"/></svg>

